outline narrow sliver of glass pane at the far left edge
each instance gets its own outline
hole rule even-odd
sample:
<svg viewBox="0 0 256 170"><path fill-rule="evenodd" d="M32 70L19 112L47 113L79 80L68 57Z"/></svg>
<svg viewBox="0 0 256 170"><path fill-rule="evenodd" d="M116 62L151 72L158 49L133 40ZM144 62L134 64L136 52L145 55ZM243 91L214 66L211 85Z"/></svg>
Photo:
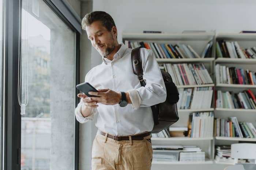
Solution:
<svg viewBox="0 0 256 170"><path fill-rule="evenodd" d="M3 0L0 0L0 169L3 156Z"/></svg>

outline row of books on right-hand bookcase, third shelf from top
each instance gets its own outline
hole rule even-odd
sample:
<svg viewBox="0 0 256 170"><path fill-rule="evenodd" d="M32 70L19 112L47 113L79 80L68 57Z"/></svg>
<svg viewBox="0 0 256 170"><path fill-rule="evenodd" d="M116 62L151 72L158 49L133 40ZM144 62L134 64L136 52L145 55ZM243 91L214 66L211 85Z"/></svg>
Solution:
<svg viewBox="0 0 256 170"><path fill-rule="evenodd" d="M250 89L237 94L233 91L218 90L215 102L217 108L256 109L256 98Z"/></svg>

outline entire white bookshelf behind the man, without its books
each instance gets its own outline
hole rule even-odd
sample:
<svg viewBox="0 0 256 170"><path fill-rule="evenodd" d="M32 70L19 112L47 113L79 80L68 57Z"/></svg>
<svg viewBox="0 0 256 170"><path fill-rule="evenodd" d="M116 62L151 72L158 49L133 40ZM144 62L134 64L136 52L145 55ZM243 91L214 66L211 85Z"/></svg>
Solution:
<svg viewBox="0 0 256 170"><path fill-rule="evenodd" d="M196 84L196 85L178 85L177 88L194 88L194 87L214 87L214 90L234 91L241 92L246 89L251 89L253 94L256 94L256 85L248 84L217 84L215 82L215 65L222 64L228 67L238 67L243 69L249 69L256 71L256 59L241 59L241 58L216 58L215 45L216 41L224 39L229 41L237 41L243 48L255 47L256 34L251 33L123 33L123 43L125 41L143 41L144 43L170 43L170 44L189 44L200 55L204 51L206 44L213 40L213 47L210 58L176 58L166 59L157 58L159 64L179 64L179 63L203 63L207 68L212 80L212 84ZM230 108L214 108L215 97L212 97L211 108L206 109L178 109L180 119L173 124L172 127L187 126L188 115L191 112L214 112L214 117L228 118L230 116L237 116L238 121L253 121L256 119L255 109L230 109ZM246 116L245 116L246 115ZM256 122L253 122L256 126ZM252 138L232 138L232 137L207 137L207 138L189 138L189 137L172 137L172 138L151 138L153 144L178 144L178 145L196 145L199 146L202 151L206 153L205 162L165 162L165 161L153 161L152 164L156 165L202 165L202 164L215 164L218 163L214 160L214 146L215 145L227 145L231 143L237 143L239 141L256 142L256 139ZM230 164L223 163L220 164Z"/></svg>

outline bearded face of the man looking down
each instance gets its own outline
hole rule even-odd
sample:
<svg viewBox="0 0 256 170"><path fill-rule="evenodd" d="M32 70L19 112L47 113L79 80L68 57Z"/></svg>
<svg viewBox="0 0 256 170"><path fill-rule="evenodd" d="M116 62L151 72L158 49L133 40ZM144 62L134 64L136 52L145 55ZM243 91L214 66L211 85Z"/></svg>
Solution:
<svg viewBox="0 0 256 170"><path fill-rule="evenodd" d="M94 21L90 26L86 26L88 39L91 40L93 47L102 56L108 56L115 47L114 32L109 32L101 21Z"/></svg>

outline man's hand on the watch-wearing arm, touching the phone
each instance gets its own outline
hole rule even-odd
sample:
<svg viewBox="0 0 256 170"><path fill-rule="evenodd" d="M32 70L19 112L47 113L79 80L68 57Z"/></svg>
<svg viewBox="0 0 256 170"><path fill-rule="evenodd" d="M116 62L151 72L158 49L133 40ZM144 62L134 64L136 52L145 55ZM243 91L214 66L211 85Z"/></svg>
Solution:
<svg viewBox="0 0 256 170"><path fill-rule="evenodd" d="M98 92L90 91L90 95L95 95L99 97L90 97L91 100L95 100L98 103L105 105L118 104L121 100L121 93L117 93L110 89L98 89Z"/></svg>

